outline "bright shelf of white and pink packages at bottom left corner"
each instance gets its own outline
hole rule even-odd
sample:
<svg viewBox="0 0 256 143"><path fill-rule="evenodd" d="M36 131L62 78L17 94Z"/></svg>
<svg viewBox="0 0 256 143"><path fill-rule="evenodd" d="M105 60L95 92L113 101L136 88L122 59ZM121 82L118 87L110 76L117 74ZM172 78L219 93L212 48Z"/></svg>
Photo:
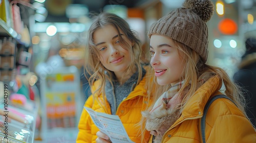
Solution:
<svg viewBox="0 0 256 143"><path fill-rule="evenodd" d="M0 104L0 142L32 143L38 110L35 102L27 100L22 105L5 101Z"/></svg>

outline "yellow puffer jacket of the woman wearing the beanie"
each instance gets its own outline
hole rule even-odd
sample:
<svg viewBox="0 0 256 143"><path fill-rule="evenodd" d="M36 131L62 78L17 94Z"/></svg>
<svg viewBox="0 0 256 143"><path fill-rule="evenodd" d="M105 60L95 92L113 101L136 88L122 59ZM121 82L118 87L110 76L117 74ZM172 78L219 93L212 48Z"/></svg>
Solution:
<svg viewBox="0 0 256 143"><path fill-rule="evenodd" d="M181 117L163 135L162 142L202 142L200 121L208 99L221 88L221 79L210 78L194 94ZM205 123L206 142L256 142L256 132L244 114L227 99L217 99L210 105Z"/></svg>

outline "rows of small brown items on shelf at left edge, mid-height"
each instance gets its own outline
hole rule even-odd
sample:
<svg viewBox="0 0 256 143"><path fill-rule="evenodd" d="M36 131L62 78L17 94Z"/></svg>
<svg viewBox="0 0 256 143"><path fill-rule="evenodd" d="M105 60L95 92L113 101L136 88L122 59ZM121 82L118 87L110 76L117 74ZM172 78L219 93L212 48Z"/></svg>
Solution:
<svg viewBox="0 0 256 143"><path fill-rule="evenodd" d="M10 81L15 66L16 43L12 37L0 37L0 81Z"/></svg>

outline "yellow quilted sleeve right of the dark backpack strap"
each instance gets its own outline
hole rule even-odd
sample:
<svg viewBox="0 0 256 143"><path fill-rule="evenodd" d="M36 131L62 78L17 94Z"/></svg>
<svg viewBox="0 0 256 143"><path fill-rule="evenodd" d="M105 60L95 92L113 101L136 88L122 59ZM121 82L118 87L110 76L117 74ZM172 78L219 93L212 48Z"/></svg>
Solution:
<svg viewBox="0 0 256 143"><path fill-rule="evenodd" d="M231 101L220 99L212 105L206 116L206 142L256 142L255 129Z"/></svg>

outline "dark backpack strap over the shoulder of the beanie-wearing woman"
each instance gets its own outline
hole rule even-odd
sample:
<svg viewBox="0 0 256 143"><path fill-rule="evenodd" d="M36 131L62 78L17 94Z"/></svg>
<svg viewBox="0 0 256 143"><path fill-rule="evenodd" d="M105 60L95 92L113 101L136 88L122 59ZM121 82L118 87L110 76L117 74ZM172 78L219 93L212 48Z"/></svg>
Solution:
<svg viewBox="0 0 256 143"><path fill-rule="evenodd" d="M215 100L219 99L219 98L225 98L225 99L228 99L230 101L232 101L229 97L223 95L223 94L220 94L220 95L217 95L217 96L214 96L212 97L210 100L207 101L205 107L204 107L204 113L203 113L203 117L201 118L201 133L202 133L202 138L203 138L203 143L205 143L205 118L206 118L206 114L207 114L207 111L211 105L212 102L214 102ZM233 101L232 101L233 102ZM233 102L234 103L234 102ZM234 103L235 104L235 103ZM236 105L236 104L235 104Z"/></svg>

